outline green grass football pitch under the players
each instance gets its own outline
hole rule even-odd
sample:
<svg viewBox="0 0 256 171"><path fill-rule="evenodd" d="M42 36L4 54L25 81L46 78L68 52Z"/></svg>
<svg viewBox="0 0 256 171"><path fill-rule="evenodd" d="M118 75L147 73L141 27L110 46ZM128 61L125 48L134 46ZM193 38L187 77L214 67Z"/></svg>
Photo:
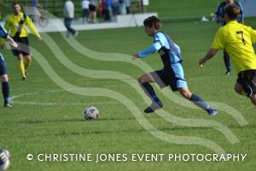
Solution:
<svg viewBox="0 0 256 171"><path fill-rule="evenodd" d="M182 3L187 5L185 1ZM160 16L165 17L167 9L164 4L160 5L155 8L163 8ZM212 9L212 5L208 9ZM184 12L183 16L189 16L188 13ZM255 20L247 19L246 23L256 28ZM164 109L154 115L143 114L148 100L140 95L143 92L138 88L136 79L144 73L143 70L151 71L148 66L152 70L162 67L158 54L145 60L131 61L131 54L152 42L144 34L143 27L80 31L76 39L78 42L72 39L67 42L61 33L43 35L42 43L31 37L34 60L26 83L20 81L15 57L4 50L15 108L0 108L0 146L11 152L10 170L254 170L255 106L233 90L235 70L229 77L224 76L222 53L209 61L206 67L197 66L198 59L211 46L217 29L218 25L213 22L166 22L163 26L163 30L182 48L189 88L220 109L215 117L187 107L190 104L168 88L157 90ZM75 49L78 48L76 44L84 48ZM83 110L89 105L99 109L99 120L84 121ZM231 108L240 114L227 112ZM192 141L191 137L211 140L206 141L210 147L202 145L201 141ZM178 141L180 138L184 138L183 145ZM175 140L179 144L172 143ZM36 157L39 153L91 153L94 156L97 153L218 152L214 151L215 147L211 148L212 142L227 153L247 154L245 162L26 160L29 153Z"/></svg>

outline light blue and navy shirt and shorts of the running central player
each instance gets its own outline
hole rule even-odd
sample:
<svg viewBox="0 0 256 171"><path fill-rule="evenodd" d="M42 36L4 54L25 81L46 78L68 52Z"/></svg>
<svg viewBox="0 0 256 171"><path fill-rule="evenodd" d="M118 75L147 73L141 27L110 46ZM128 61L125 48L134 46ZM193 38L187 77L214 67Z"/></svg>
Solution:
<svg viewBox="0 0 256 171"><path fill-rule="evenodd" d="M140 58L145 58L149 54L154 54L157 51L160 54L164 68L156 72L163 83L170 85L174 91L177 88L187 88L183 66L181 65L183 61L181 50L164 31L156 32L154 34L154 43L140 51L137 55Z"/></svg>

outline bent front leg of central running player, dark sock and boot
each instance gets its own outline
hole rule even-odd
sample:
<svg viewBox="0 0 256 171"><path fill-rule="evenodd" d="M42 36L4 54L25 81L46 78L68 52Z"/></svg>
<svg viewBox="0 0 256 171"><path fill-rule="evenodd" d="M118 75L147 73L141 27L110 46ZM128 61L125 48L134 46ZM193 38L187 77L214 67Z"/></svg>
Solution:
<svg viewBox="0 0 256 171"><path fill-rule="evenodd" d="M148 95L148 97L152 100L152 104L148 106L144 110L146 113L154 112L157 109L160 109L163 105L158 96L155 94L154 88L150 85L150 83L154 83L154 77L151 73L145 74L142 77L139 77L138 82L142 86L144 92Z"/></svg>

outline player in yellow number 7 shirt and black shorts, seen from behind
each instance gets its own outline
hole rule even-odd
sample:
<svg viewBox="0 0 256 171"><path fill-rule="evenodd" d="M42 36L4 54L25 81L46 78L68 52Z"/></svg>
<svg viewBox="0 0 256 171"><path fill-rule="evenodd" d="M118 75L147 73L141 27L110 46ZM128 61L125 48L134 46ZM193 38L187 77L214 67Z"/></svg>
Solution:
<svg viewBox="0 0 256 171"><path fill-rule="evenodd" d="M199 60L199 65L212 59L218 53L218 49L226 49L238 73L236 93L246 93L256 105L256 54L253 49L253 43L256 43L256 31L238 23L239 14L240 8L236 4L225 7L224 20L227 24L218 29L212 48Z"/></svg>

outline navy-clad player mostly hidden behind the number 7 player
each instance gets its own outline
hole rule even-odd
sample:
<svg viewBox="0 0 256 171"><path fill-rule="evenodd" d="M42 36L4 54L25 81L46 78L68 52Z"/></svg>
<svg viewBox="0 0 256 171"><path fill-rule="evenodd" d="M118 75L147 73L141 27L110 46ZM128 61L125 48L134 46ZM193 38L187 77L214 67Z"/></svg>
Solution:
<svg viewBox="0 0 256 171"><path fill-rule="evenodd" d="M241 4L240 3L236 3L234 2L234 0L225 0L222 3L219 3L218 5L218 9L215 13L216 15L216 20L218 23L220 23L221 26L225 26L226 25L226 21L224 20L224 7L229 5L229 4L236 4L239 9L240 9L240 14L237 18L237 21L243 24L243 12L241 9ZM230 66L230 55L226 52L226 50L224 49L223 51L224 54L224 65L226 67L226 75L230 75L230 71L231 71L231 66Z"/></svg>

